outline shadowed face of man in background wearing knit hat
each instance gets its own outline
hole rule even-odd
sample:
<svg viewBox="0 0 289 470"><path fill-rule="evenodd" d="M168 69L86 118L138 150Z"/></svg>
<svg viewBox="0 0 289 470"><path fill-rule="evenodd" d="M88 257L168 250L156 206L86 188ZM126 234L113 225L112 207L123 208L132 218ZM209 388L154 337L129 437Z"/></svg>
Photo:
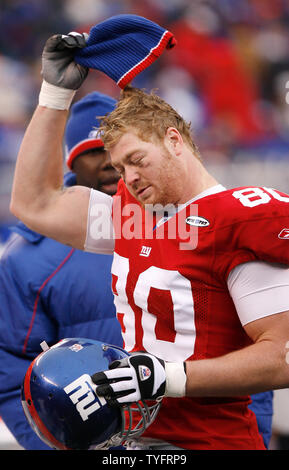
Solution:
<svg viewBox="0 0 289 470"><path fill-rule="evenodd" d="M109 153L103 149L95 149L77 157L73 162L73 171L77 184L109 195L116 193L119 174L111 165Z"/></svg>

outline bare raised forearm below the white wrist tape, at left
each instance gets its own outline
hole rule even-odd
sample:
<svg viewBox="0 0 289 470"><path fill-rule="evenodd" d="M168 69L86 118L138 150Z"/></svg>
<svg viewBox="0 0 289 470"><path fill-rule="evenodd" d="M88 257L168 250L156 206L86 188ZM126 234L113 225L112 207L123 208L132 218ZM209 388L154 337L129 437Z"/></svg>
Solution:
<svg viewBox="0 0 289 470"><path fill-rule="evenodd" d="M62 139L68 112L38 106L17 158L11 211L22 220L63 184ZM25 220L24 220L25 222Z"/></svg>

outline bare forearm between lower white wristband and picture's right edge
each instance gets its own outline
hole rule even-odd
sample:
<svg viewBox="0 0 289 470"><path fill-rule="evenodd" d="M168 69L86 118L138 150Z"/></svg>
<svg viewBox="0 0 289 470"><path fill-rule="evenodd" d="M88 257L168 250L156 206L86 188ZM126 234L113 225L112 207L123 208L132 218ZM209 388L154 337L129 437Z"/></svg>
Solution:
<svg viewBox="0 0 289 470"><path fill-rule="evenodd" d="M225 356L186 362L187 396L236 396L289 386L285 342L261 341Z"/></svg>

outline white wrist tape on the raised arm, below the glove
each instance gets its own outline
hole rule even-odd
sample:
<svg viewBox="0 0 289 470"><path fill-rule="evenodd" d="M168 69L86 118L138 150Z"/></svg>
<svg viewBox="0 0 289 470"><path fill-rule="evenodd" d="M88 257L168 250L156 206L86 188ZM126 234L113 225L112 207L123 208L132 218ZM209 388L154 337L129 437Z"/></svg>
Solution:
<svg viewBox="0 0 289 470"><path fill-rule="evenodd" d="M39 105L52 109L69 109L76 91L51 85L43 80L39 94Z"/></svg>

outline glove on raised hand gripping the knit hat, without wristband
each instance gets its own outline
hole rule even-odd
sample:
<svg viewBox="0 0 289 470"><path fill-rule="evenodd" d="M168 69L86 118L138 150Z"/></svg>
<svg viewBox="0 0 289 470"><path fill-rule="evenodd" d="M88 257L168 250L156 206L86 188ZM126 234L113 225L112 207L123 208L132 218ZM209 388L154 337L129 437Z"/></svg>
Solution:
<svg viewBox="0 0 289 470"><path fill-rule="evenodd" d="M86 46L86 39L86 33L51 36L42 53L43 79L51 85L78 90L89 69L74 62L74 53L76 48Z"/></svg>

